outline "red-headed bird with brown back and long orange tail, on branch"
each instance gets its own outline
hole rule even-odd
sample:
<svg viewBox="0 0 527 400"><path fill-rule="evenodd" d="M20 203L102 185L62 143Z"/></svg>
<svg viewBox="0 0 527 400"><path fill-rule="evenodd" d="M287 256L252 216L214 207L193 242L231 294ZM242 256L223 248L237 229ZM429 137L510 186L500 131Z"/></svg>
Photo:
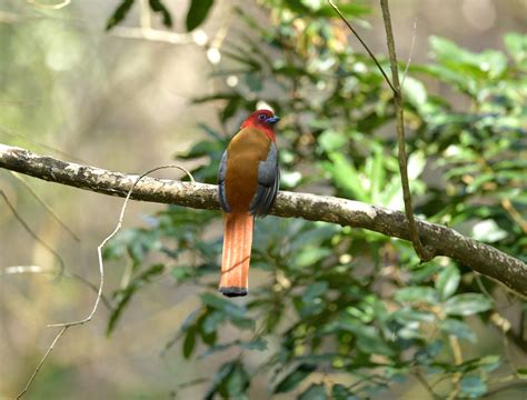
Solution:
<svg viewBox="0 0 527 400"><path fill-rule="evenodd" d="M275 124L269 110L252 112L230 140L218 170L225 236L219 291L246 296L255 217L265 217L280 184Z"/></svg>

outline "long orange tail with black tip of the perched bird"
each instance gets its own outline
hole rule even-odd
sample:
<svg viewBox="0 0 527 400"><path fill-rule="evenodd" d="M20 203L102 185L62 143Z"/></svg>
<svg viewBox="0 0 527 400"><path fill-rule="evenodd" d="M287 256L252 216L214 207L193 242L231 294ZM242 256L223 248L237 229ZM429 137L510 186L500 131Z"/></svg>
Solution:
<svg viewBox="0 0 527 400"><path fill-rule="evenodd" d="M223 256L219 291L227 297L246 296L249 289L249 262L253 216L225 214Z"/></svg>

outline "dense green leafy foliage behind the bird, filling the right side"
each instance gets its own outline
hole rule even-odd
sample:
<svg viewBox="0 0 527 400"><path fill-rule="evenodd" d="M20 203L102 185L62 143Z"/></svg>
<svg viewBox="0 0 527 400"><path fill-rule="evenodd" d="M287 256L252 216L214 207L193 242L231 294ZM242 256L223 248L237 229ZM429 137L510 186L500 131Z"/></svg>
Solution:
<svg viewBox="0 0 527 400"><path fill-rule="evenodd" d="M197 3L189 30L212 2L200 10ZM211 79L235 77L236 83L195 100L222 104L221 129L201 126L206 138L178 156L207 158L192 173L215 182L230 132L264 100L286 117L279 133L284 189L401 208L391 93L376 66L349 46L325 2L264 4L266 23L235 9L240 29L251 34L227 38L225 61ZM354 1L342 11L360 22L369 9ZM418 213L525 258L526 37L509 33L504 42L509 54L473 53L430 38L432 61L410 67L405 80L408 172ZM469 106L457 110L419 79L453 89ZM267 278L247 300L233 301L215 293L221 237L211 232L219 217L169 207L152 217L151 228L121 234L107 252L127 252L142 271L117 292L119 312L149 277L143 266L151 252L166 257L175 283L196 286L200 306L168 348L179 344L189 360L230 358L206 398L246 398L253 379L299 399L371 398L410 379L438 397L457 390L475 398L489 390L500 357L453 354L474 354L480 326L491 329L498 310L491 294L501 292L493 282L445 258L419 263L408 243L375 232L268 217L256 224L251 263Z"/></svg>

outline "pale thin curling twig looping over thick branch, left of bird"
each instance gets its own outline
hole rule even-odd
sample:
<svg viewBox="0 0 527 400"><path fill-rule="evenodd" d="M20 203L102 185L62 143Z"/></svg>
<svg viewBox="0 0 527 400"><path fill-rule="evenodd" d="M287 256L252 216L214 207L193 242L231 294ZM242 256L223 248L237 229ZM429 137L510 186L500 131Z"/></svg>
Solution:
<svg viewBox="0 0 527 400"><path fill-rule="evenodd" d="M20 394L17 397L17 399L20 399L27 391L28 389L30 388L31 383L33 382L34 378L37 377L38 372L40 371L40 369L42 368L42 364L44 363L46 359L48 358L49 353L51 352L51 350L53 350L57 341L60 339L60 337L66 332L66 330L68 328L71 328L71 327L74 327L74 326L81 326L81 324L84 324L87 322L90 322L91 319L93 318L98 307L99 307L99 302L101 301L102 299L102 288L105 286L105 264L102 262L102 248L105 247L105 244L111 240L116 234L117 232L119 232L119 230L121 229L121 226L122 226L122 220L125 218L125 211L126 211L126 208L128 206L128 200L130 200L130 196L133 191L133 189L136 188L137 183L139 183L139 181L145 178L147 174L149 173L152 173L155 171L158 171L158 170L161 170L161 169L168 169L168 168L177 168L183 172L186 172L190 180L192 182L195 182L195 179L192 177L192 174L187 170L185 169L183 167L180 167L180 166L173 166L173 164L169 164L169 166L162 166L162 167L157 167L157 168L153 168L145 173L142 173L141 176L139 176L139 178L137 178L137 180L133 182L132 187L130 188L130 190L128 191L128 194L125 199L125 202L122 203L122 208L121 208L121 212L119 214L119 221L116 226L116 229L113 229L113 231L107 236L105 238L105 240L102 240L102 242L97 247L97 254L98 254L98 260L99 260L99 288L97 290L97 298L96 298L96 301L93 302L93 308L91 309L91 312L88 314L88 317L86 317L84 319L81 319L79 321L73 321L73 322L61 322L61 323L52 323L52 324L48 324L48 328L56 328L56 327L60 327L62 328L59 333L57 334L57 337L54 338L54 340L51 342L51 346L48 348L48 351L46 352L46 354L42 357L42 359L40 360L39 364L37 366L37 368L34 369L33 373L31 374L31 377L29 378L28 380L28 383L26 384L26 387L23 388L23 390L20 392ZM3 192L2 192L3 193ZM9 202L8 202L9 203Z"/></svg>

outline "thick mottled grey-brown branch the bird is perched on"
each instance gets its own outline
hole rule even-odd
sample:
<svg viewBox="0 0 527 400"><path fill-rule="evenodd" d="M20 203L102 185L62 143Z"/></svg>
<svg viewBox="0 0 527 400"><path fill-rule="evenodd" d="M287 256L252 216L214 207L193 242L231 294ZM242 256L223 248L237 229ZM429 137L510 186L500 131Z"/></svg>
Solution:
<svg viewBox="0 0 527 400"><path fill-rule="evenodd" d="M38 156L6 144L0 144L0 168L117 197L126 197L139 177ZM133 189L131 199L196 209L220 209L216 186L169 179L143 178ZM362 228L392 238L410 240L408 221L404 212L359 201L280 191L270 213L284 218L304 218ZM527 296L527 264L521 260L466 238L447 227L418 219L416 226L428 252L449 257Z"/></svg>

